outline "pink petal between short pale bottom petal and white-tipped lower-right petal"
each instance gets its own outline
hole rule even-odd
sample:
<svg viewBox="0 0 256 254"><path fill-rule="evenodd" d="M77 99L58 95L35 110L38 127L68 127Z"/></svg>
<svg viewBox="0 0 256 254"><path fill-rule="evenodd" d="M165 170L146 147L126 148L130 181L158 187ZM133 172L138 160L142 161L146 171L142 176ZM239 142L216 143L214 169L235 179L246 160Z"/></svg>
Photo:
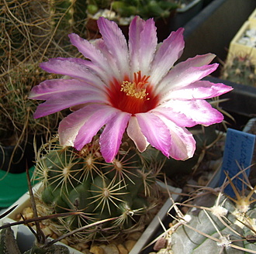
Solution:
<svg viewBox="0 0 256 254"><path fill-rule="evenodd" d="M161 118L152 113L139 113L136 114L136 117L147 142L161 150L165 156L170 156L171 136L168 127Z"/></svg>

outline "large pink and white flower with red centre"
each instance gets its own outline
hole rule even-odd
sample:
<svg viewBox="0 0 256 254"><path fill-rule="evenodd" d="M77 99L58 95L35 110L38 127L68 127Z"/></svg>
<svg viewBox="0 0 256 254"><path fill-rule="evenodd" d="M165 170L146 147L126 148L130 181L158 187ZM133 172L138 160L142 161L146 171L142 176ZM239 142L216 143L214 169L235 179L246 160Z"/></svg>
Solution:
<svg viewBox="0 0 256 254"><path fill-rule="evenodd" d="M72 112L59 126L61 145L80 150L102 126L102 156L112 162L126 131L137 149L148 144L165 156L186 160L193 156L195 139L185 127L222 122L223 115L204 99L232 88L199 81L218 67L208 53L174 63L184 49L183 29L157 45L154 20L135 17L128 45L115 22L100 18L102 39L94 42L72 33L71 43L84 55L55 58L40 67L69 78L43 81L29 98L46 100L35 118L64 108Z"/></svg>

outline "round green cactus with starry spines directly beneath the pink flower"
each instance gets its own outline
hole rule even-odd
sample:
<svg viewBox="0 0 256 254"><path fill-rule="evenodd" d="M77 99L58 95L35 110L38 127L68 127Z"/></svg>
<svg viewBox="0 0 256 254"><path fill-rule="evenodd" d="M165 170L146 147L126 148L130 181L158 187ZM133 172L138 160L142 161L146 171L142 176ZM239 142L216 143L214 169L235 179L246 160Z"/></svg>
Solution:
<svg viewBox="0 0 256 254"><path fill-rule="evenodd" d="M57 139L42 146L35 174L42 181L37 195L41 215L83 212L78 217L51 221L53 232L62 235L102 219L116 218L73 234L69 241L74 243L106 241L144 228L157 204L160 167L154 163L150 149L143 154L124 141L113 163L106 163L97 136L80 152L58 145Z"/></svg>

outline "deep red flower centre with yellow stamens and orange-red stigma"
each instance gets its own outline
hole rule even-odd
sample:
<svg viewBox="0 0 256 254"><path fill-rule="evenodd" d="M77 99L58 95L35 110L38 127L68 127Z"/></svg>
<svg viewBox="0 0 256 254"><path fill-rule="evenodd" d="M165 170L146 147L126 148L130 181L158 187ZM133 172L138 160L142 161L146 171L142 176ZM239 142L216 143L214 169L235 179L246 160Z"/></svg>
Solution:
<svg viewBox="0 0 256 254"><path fill-rule="evenodd" d="M112 107L132 115L155 108L159 98L148 82L149 77L145 75L142 77L138 71L133 74L133 81L129 78L125 78L122 84L119 81L113 81L109 89L109 102Z"/></svg>

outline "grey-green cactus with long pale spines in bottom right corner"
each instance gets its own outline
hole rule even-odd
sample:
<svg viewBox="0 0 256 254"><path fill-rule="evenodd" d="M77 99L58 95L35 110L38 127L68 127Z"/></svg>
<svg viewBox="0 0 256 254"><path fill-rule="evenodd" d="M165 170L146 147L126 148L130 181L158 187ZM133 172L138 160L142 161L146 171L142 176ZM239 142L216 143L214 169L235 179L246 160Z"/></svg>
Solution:
<svg viewBox="0 0 256 254"><path fill-rule="evenodd" d="M157 253L256 253L256 200L253 197L256 186L251 187L245 174L244 179L240 179L240 173L232 178L227 175L228 183L219 189L201 189L192 204L175 203L177 218L164 232L166 245ZM242 191L235 187L235 178L242 180ZM231 185L235 197L223 193L227 184ZM178 205L191 209L183 215Z"/></svg>

